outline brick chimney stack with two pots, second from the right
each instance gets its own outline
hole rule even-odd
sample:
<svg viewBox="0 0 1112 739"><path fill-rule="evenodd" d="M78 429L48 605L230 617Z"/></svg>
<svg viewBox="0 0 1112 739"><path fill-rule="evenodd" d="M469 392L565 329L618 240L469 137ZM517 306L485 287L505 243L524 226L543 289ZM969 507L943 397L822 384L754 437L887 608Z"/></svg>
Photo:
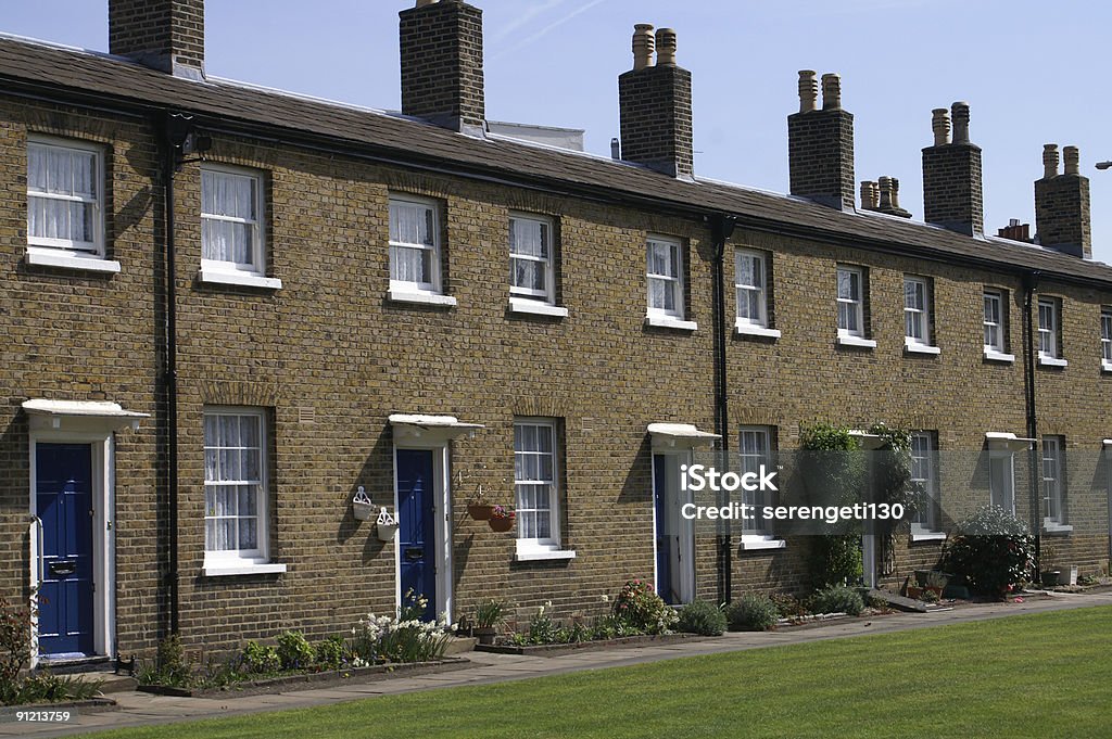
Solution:
<svg viewBox="0 0 1112 739"><path fill-rule="evenodd" d="M932 111L934 146L923 149L923 220L959 233L984 233L981 148L970 141L970 107ZM953 140L950 139L953 116Z"/></svg>

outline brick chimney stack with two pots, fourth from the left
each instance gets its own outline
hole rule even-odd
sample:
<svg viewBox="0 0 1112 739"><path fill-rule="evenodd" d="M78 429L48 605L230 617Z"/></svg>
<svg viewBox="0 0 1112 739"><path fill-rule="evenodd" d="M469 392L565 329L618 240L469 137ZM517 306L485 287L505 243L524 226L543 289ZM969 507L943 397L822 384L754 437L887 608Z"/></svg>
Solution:
<svg viewBox="0 0 1112 739"><path fill-rule="evenodd" d="M816 108L815 72L800 72L800 112L787 117L792 194L852 210L853 113L842 109L842 80L823 74L823 107Z"/></svg>

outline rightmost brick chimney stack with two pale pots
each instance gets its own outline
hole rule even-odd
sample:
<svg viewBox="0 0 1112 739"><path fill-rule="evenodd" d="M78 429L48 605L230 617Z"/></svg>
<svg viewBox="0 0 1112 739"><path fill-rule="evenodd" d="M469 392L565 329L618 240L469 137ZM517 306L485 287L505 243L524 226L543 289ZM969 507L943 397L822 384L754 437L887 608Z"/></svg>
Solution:
<svg viewBox="0 0 1112 739"><path fill-rule="evenodd" d="M1058 172L1058 144L1043 147L1043 177L1035 180L1035 230L1048 249L1093 258L1089 218L1089 178L1081 174L1081 152L1063 147L1065 171Z"/></svg>

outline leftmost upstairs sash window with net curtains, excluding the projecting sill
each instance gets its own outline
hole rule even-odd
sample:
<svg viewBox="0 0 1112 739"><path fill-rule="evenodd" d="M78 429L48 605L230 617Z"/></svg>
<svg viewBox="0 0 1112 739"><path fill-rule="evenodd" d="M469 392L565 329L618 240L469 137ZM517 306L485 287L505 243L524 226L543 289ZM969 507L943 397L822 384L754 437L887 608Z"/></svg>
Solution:
<svg viewBox="0 0 1112 739"><path fill-rule="evenodd" d="M31 138L27 144L27 242L105 256L103 154L98 147Z"/></svg>

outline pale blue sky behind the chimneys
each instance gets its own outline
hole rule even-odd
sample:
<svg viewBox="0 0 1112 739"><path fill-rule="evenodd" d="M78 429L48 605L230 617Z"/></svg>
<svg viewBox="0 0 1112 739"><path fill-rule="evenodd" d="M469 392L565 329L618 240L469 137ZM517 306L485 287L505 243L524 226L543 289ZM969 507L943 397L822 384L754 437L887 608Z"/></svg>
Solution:
<svg viewBox="0 0 1112 739"><path fill-rule="evenodd" d="M398 10L408 0L208 0L210 74L397 109ZM785 117L800 69L842 76L856 180L901 182L922 219L931 109L971 106L984 149L985 231L1031 222L1042 144L1081 148L1093 244L1112 262L1112 6L1081 0L475 0L487 117L587 130L608 154L633 24L671 27L694 76L696 174L787 190ZM107 50L107 2L9 1L0 30ZM991 248L986 244L985 248Z"/></svg>

